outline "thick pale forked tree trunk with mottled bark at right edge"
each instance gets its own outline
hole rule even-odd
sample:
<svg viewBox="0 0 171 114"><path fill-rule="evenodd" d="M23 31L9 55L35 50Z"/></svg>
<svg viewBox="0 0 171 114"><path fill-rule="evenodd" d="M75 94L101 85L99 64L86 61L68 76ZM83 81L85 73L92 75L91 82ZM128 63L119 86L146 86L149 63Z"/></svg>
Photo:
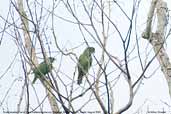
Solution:
<svg viewBox="0 0 171 114"><path fill-rule="evenodd" d="M157 29L152 33L152 20L154 11L157 11ZM164 48L165 43L165 30L167 25L167 4L163 0L153 0L148 14L147 25L142 37L147 39L153 46L157 60L161 66L161 70L165 76L168 84L169 94L171 97L171 63L168 54Z"/></svg>

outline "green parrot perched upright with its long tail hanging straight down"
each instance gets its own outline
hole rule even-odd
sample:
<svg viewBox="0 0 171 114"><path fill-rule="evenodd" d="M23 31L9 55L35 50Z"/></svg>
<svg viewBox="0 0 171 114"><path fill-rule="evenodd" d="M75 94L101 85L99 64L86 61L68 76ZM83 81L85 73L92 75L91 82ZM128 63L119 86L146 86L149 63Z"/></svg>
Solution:
<svg viewBox="0 0 171 114"><path fill-rule="evenodd" d="M80 55L78 60L78 81L77 84L80 85L82 83L83 76L88 73L92 65L92 57L91 54L95 52L94 47L88 47L84 50L84 52Z"/></svg>

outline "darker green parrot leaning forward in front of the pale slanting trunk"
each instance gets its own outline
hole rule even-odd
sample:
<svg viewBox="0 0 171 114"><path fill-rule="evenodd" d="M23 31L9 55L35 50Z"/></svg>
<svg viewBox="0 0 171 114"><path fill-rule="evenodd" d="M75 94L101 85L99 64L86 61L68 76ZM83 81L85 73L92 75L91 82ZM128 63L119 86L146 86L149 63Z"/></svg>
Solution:
<svg viewBox="0 0 171 114"><path fill-rule="evenodd" d="M53 66L52 63L54 62L55 58L53 57L49 57L47 58L47 63L46 61L43 61L42 63L40 63L36 68L33 69L33 73L34 73L34 79L32 84L34 84L37 80L37 78L41 78L42 76L45 76L46 74L48 74Z"/></svg>

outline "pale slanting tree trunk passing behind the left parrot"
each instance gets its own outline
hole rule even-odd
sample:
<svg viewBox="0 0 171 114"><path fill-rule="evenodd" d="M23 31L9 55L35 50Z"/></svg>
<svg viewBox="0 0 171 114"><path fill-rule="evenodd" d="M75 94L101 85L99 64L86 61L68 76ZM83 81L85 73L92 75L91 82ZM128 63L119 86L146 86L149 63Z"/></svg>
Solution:
<svg viewBox="0 0 171 114"><path fill-rule="evenodd" d="M30 58L29 64L30 64L31 68L33 68L38 65L38 60L36 57L35 48L32 46L32 41L31 41L31 37L30 37L30 33L29 33L29 23L28 23L28 18L27 18L26 12L24 11L23 0L18 0L18 10L19 10L20 19L22 21L22 29L23 29L23 34L24 34L25 48L28 51L29 58ZM46 58L46 56L45 56L45 58ZM51 88L50 88L49 83L46 83L46 81L44 81L43 85L46 88L46 94L48 96L48 100L49 100L52 112L53 113L59 112L58 104L56 102L55 97L51 93Z"/></svg>

